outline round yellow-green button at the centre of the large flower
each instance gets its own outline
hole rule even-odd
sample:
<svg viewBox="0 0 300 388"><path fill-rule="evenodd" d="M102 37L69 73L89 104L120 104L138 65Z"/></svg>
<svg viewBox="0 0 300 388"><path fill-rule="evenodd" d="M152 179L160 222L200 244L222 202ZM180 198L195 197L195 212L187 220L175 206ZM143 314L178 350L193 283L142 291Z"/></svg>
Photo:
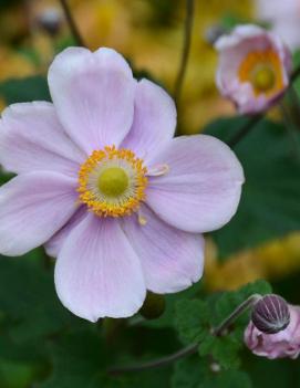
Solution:
<svg viewBox="0 0 300 388"><path fill-rule="evenodd" d="M121 167L111 167L104 170L97 180L101 192L107 197L118 197L128 188L130 179Z"/></svg>

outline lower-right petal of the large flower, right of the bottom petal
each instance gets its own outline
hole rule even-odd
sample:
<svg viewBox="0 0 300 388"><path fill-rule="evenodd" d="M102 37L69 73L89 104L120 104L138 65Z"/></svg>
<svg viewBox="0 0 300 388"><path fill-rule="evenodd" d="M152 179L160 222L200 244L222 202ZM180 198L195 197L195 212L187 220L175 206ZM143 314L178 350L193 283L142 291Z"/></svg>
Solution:
<svg viewBox="0 0 300 388"><path fill-rule="evenodd" d="M197 282L204 266L201 234L169 227L145 206L142 214L146 224L141 226L136 217L128 217L123 228L141 260L147 290L173 293Z"/></svg>

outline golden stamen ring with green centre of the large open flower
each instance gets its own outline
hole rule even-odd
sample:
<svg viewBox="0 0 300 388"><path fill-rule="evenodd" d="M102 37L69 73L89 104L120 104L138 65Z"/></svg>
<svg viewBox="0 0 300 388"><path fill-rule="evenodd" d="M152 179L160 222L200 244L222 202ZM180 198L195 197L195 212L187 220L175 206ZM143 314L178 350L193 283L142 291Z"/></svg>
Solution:
<svg viewBox="0 0 300 388"><path fill-rule="evenodd" d="M94 150L79 171L80 201L100 217L123 217L145 200L147 169L128 149Z"/></svg>

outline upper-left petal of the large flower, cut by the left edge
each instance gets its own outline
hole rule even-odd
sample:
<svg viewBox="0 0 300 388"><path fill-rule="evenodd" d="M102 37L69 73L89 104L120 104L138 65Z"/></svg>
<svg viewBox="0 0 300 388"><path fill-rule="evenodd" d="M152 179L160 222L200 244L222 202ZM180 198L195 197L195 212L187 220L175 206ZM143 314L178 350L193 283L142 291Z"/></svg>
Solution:
<svg viewBox="0 0 300 388"><path fill-rule="evenodd" d="M72 143L46 102L10 105L0 119L0 164L13 172L76 175L84 155Z"/></svg>

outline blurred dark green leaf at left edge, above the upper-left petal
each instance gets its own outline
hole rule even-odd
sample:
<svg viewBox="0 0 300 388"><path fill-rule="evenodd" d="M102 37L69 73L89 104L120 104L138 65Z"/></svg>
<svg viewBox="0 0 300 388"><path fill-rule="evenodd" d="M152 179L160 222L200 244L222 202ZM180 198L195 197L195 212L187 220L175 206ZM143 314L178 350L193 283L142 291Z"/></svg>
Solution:
<svg viewBox="0 0 300 388"><path fill-rule="evenodd" d="M1 82L0 96L8 105L51 99L46 77L40 75Z"/></svg>

